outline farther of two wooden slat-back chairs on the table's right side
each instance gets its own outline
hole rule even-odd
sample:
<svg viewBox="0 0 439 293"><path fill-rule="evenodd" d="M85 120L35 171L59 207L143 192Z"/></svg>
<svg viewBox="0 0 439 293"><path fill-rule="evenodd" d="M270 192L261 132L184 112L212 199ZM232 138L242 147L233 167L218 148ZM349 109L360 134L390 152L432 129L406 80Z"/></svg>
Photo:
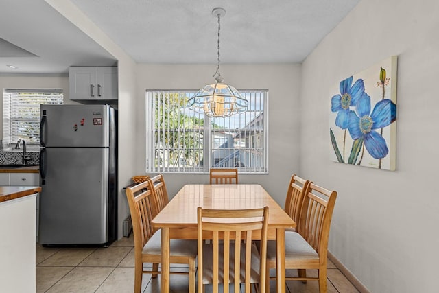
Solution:
<svg viewBox="0 0 439 293"><path fill-rule="evenodd" d="M285 213L296 222L300 220L300 211L302 209L303 194L309 185L309 180L300 178L296 174L291 176L288 185L287 197L285 198ZM290 228L288 231L296 231L295 228Z"/></svg>

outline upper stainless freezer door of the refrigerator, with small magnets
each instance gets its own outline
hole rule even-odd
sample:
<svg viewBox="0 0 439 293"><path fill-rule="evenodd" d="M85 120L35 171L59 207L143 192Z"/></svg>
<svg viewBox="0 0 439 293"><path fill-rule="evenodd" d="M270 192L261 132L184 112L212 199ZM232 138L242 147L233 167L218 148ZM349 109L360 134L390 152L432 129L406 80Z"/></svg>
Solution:
<svg viewBox="0 0 439 293"><path fill-rule="evenodd" d="M40 141L47 148L108 147L108 105L41 105Z"/></svg>

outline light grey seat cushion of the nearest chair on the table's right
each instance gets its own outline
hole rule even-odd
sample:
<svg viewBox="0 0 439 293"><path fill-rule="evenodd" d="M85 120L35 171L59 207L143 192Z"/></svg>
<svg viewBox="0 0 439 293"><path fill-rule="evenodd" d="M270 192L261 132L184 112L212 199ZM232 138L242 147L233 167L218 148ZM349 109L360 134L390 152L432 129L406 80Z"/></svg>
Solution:
<svg viewBox="0 0 439 293"><path fill-rule="evenodd" d="M318 261L318 254L316 250L297 232L286 231L285 232L285 260L294 259L299 261L300 259L309 261L316 259ZM276 242L267 242L267 260L276 261Z"/></svg>

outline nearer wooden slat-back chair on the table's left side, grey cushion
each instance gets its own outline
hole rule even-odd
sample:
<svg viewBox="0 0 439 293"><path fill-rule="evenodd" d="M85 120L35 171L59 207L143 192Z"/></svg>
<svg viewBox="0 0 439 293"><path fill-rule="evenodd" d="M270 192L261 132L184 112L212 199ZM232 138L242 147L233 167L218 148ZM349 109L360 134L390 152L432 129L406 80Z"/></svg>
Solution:
<svg viewBox="0 0 439 293"><path fill-rule="evenodd" d="M145 270L143 263L161 262L161 230L154 231L151 220L158 213L154 189L150 180L126 188L134 232L134 292L141 292L143 274L156 277L158 265ZM184 263L189 266L189 292L195 292L195 258L197 247L187 245L185 240L171 239L169 263ZM187 274L171 272L171 274Z"/></svg>

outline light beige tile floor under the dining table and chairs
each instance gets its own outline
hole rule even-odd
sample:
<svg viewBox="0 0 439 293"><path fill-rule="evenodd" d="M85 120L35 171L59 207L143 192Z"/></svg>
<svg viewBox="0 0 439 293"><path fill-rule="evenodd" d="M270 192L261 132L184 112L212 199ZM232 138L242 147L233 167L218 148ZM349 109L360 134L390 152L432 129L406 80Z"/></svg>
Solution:
<svg viewBox="0 0 439 293"><path fill-rule="evenodd" d="M185 269L185 268L174 268ZM274 274L274 272L272 272ZM295 272L288 272L294 274ZM316 274L308 271L307 274ZM328 292L351 293L357 289L328 261ZM171 275L171 292L187 292L187 276ZM270 282L272 292L275 281ZM36 246L36 292L132 293L134 290L134 241L114 242L108 248L52 248ZM160 277L143 274L143 293L160 292ZM206 288L209 292L209 288ZM241 290L241 292L244 292ZM287 281L287 292L318 292L318 282Z"/></svg>

